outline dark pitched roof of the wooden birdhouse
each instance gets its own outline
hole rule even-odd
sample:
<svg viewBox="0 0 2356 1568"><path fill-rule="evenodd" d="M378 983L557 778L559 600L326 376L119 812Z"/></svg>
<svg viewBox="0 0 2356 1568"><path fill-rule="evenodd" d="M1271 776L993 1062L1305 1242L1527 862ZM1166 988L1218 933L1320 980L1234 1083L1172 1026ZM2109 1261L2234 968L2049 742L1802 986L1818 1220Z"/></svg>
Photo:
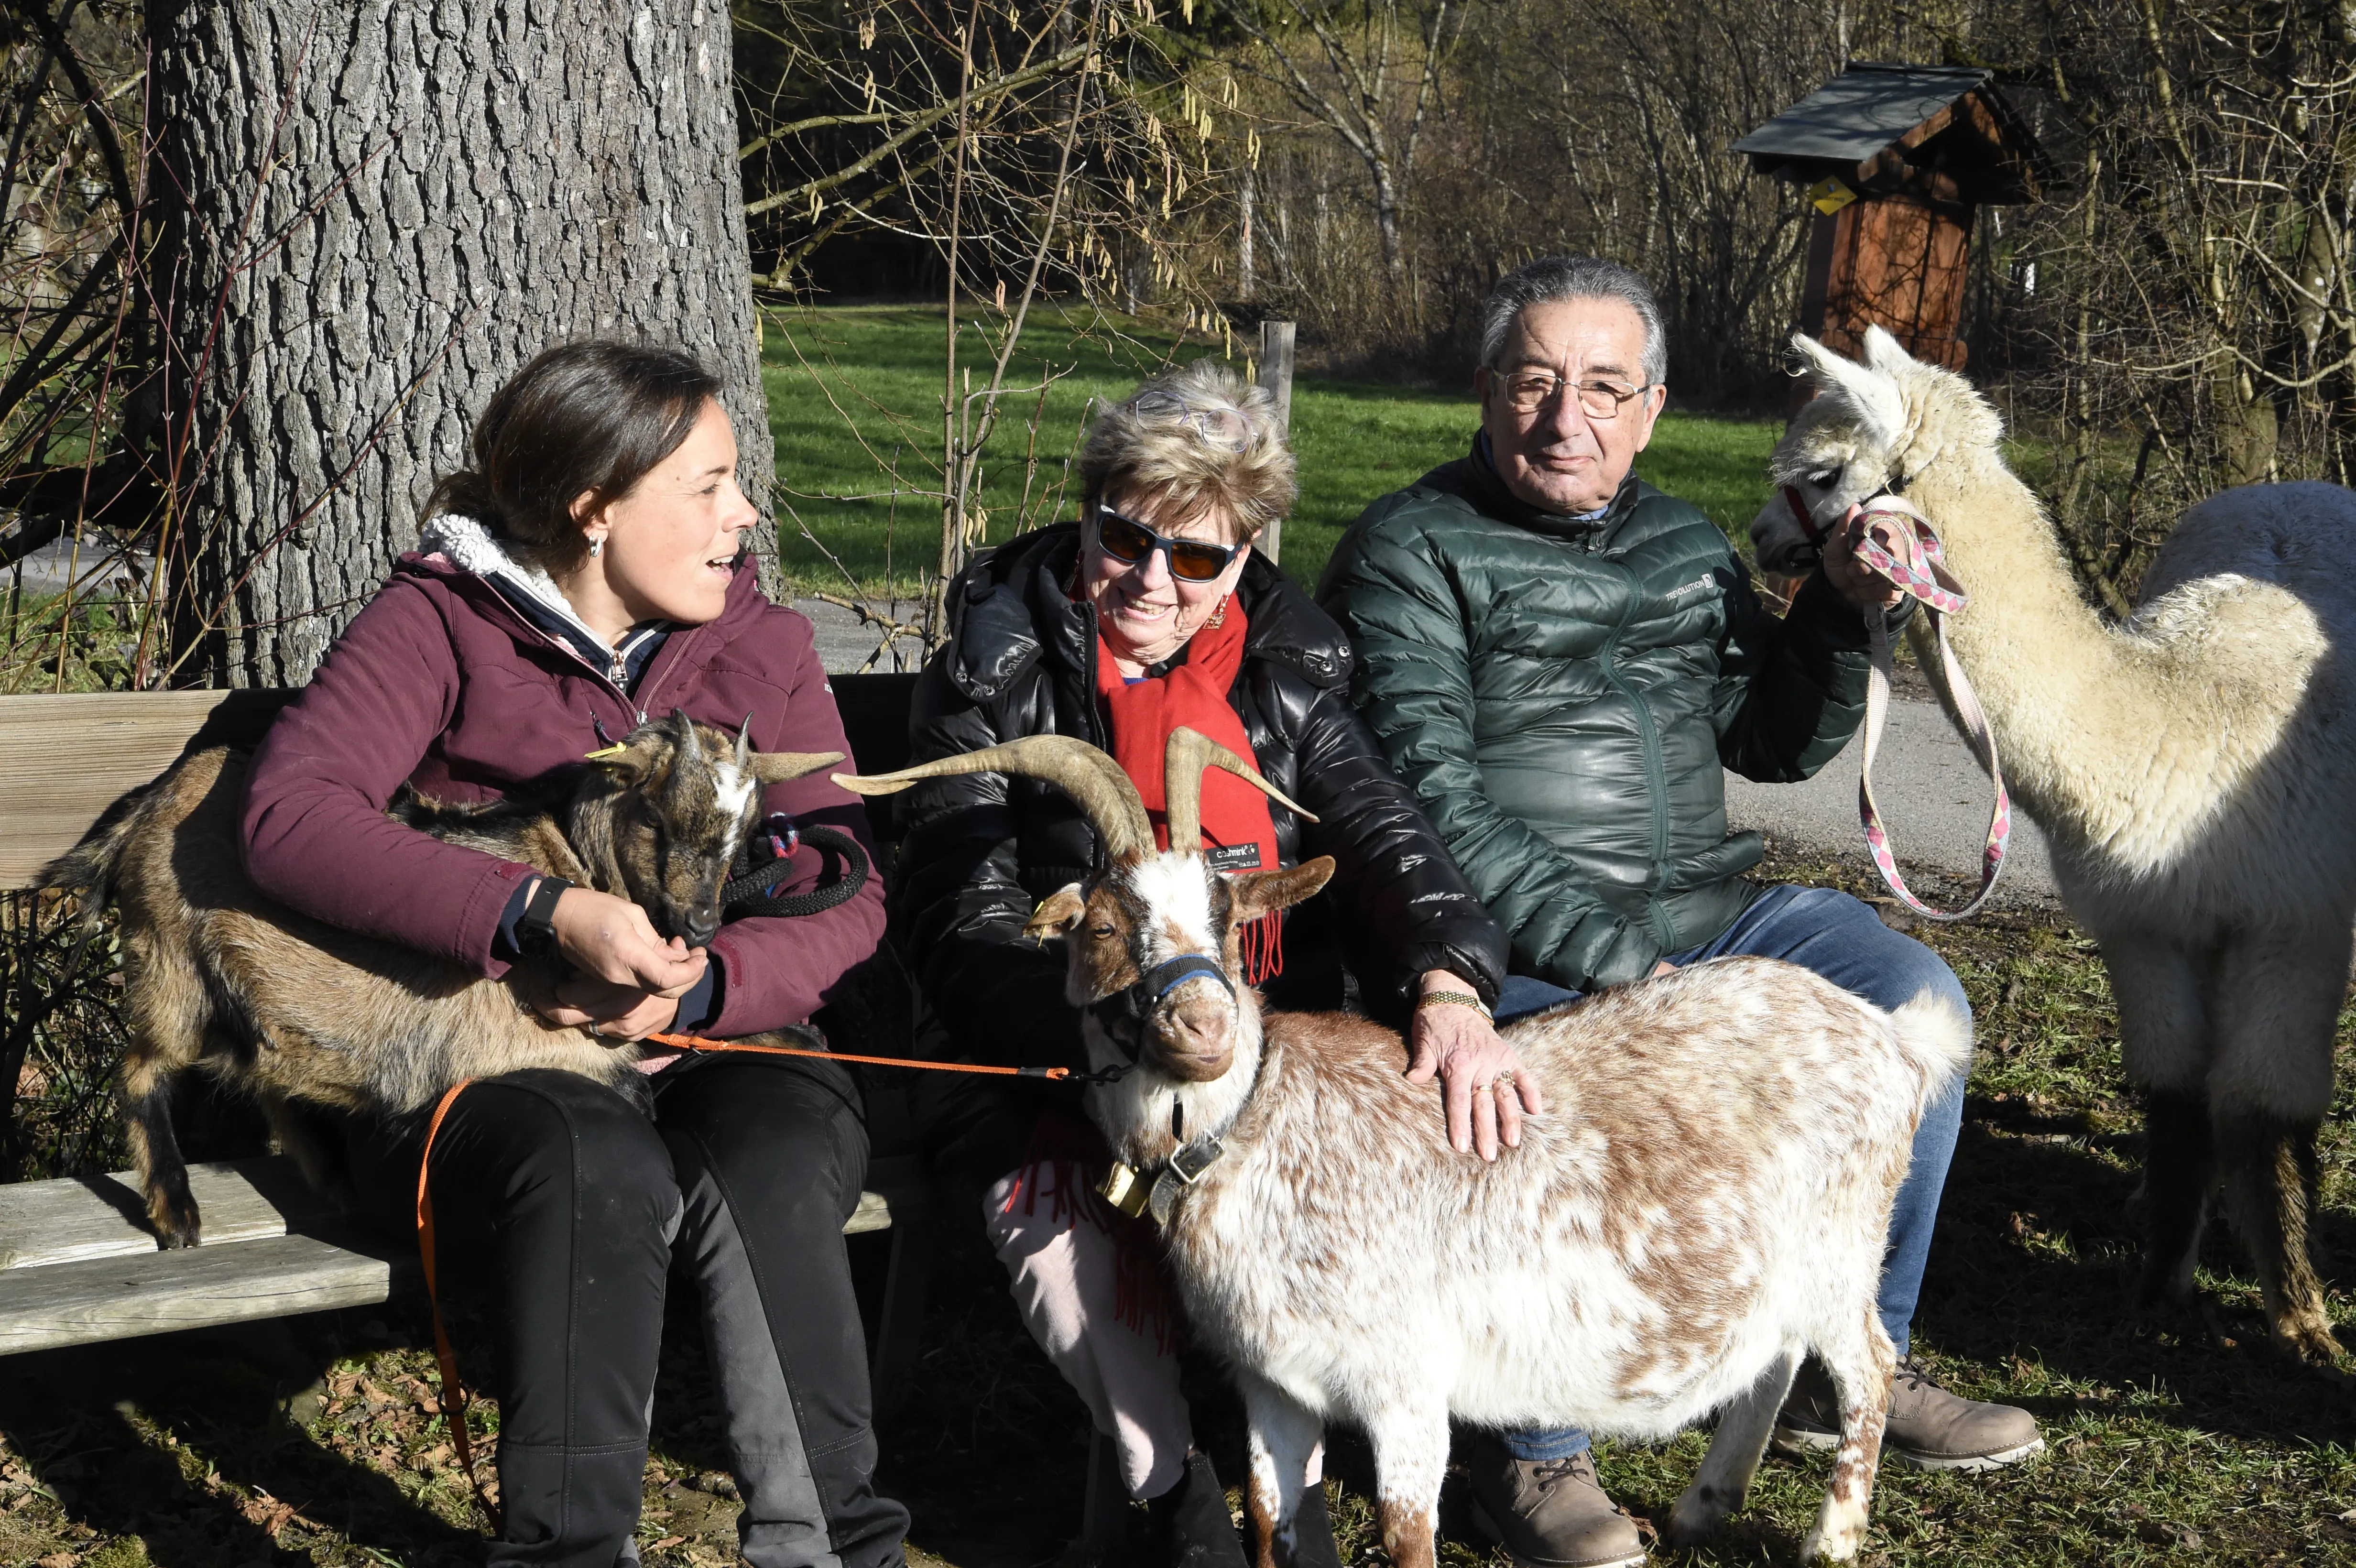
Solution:
<svg viewBox="0 0 2356 1568"><path fill-rule="evenodd" d="M1840 177L1861 193L1920 184L1965 202L2031 200L2043 153L1979 66L1849 61L1831 82L1734 144L1762 174Z"/></svg>

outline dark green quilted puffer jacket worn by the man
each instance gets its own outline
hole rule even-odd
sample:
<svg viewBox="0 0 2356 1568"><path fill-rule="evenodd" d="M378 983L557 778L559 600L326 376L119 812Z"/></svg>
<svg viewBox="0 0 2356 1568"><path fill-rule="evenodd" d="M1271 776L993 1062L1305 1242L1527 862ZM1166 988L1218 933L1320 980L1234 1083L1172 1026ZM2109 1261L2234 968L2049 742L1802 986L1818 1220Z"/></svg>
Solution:
<svg viewBox="0 0 2356 1568"><path fill-rule="evenodd" d="M1821 572L1776 619L1727 537L1635 476L1602 518L1517 501L1480 440L1350 525L1317 600L1352 697L1513 937L1597 989L1758 897L1720 765L1795 782L1866 706L1866 626Z"/></svg>

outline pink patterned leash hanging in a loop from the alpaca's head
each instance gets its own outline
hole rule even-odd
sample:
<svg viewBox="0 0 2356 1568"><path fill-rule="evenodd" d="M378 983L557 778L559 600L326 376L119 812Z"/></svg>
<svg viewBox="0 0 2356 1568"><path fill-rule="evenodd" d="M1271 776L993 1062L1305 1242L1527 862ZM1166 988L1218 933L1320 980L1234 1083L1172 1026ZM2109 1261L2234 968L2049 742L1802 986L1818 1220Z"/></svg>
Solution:
<svg viewBox="0 0 2356 1568"><path fill-rule="evenodd" d="M1807 520L1798 497L1791 499L1793 509ZM1866 523L1864 539L1857 542L1859 565L1890 579L1901 593L1922 605L1920 612L1930 617L1932 633L1939 640L1939 669L1946 673L1946 692L1955 702L1965 742L1996 786L1996 805L1988 810L1988 848L1979 857L1979 895L1963 909L1946 911L1932 909L1908 892L1906 878L1899 876L1897 855L1890 850L1890 829L1873 803L1873 756L1882 746L1882 723L1890 718L1890 683L1897 678L1890 659L1887 610L1871 614L1873 671L1866 676L1866 760L1857 777L1857 815L1866 824L1866 850L1871 850L1873 866L1882 873L1882 881L1890 883L1890 892L1899 895L1908 909L1930 921L1963 921L1988 902L1988 892L1996 890L1996 878L2005 869L2005 848L2012 843L2012 796L2005 791L2005 770L1996 763L1996 732L1988 727L1988 713L1979 706L1979 695L1972 692L1970 676L1955 664L1955 650L1946 643L1946 617L1958 614L1970 600L1955 584L1955 574L1946 570L1946 551L1939 546L1939 534L1932 532L1930 518L1911 501L1897 494L1878 494L1857 509L1857 516Z"/></svg>

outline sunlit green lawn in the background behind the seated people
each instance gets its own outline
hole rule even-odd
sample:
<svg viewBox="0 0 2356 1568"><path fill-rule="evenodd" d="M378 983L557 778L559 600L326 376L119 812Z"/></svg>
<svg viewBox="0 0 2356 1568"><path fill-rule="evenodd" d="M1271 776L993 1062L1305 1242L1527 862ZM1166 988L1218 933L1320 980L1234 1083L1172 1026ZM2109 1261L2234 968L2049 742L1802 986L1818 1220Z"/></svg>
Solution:
<svg viewBox="0 0 2356 1568"><path fill-rule="evenodd" d="M763 318L761 363L777 443L777 523L796 591L912 593L940 549L942 313L926 306L777 308ZM1173 339L1126 318L1034 311L985 450L987 542L1072 516L1065 473L1091 398L1121 398L1173 363L1218 353L1216 339ZM1235 351L1242 370L1242 344ZM987 344L961 332L959 365L987 377ZM1041 396L1039 381L1058 379ZM1301 377L1293 445L1301 504L1284 525L1284 567L1315 586L1343 527L1374 497L1465 452L1470 391ZM1670 412L1637 471L1741 534L1767 494L1767 452L1781 426ZM895 483L898 476L898 483ZM808 537L801 530L808 530ZM815 537L815 544L813 544Z"/></svg>

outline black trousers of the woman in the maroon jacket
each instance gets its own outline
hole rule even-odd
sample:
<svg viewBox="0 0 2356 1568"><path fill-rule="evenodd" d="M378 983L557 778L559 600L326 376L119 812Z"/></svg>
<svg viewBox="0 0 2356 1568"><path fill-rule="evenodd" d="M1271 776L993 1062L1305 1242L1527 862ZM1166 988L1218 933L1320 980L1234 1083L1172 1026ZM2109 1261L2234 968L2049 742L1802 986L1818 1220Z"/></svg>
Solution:
<svg viewBox="0 0 2356 1568"><path fill-rule="evenodd" d="M499 1500L488 1561L613 1568L631 1533L676 1250L744 1495L754 1568L902 1561L907 1509L879 1497L867 1347L843 1220L867 1128L834 1062L721 1057L653 1078L655 1118L561 1071L469 1085L434 1140L445 1290L495 1302ZM349 1130L382 1224L415 1217L424 1116Z"/></svg>

